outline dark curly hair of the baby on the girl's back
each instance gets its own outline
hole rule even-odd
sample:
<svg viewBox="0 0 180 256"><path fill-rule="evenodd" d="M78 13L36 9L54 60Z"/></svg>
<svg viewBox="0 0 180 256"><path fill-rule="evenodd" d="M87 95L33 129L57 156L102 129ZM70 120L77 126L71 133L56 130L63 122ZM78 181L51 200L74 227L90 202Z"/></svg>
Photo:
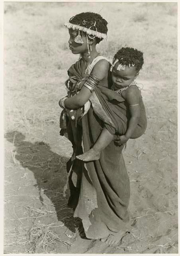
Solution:
<svg viewBox="0 0 180 256"><path fill-rule="evenodd" d="M122 65L135 66L138 72L144 64L143 52L130 47L122 47L118 50L113 57L113 63L115 60L119 60L119 64Z"/></svg>

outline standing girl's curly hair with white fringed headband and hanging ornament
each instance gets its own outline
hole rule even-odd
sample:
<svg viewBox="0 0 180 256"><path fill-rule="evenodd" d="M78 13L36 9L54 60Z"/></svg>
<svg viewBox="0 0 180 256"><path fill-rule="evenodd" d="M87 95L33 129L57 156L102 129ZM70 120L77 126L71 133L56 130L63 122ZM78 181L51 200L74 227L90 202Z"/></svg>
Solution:
<svg viewBox="0 0 180 256"><path fill-rule="evenodd" d="M101 40L107 40L108 22L94 12L82 12L70 18L69 22L65 23L65 27L72 30L78 30L78 35L75 38L76 43L82 44L81 32L86 33L89 39L96 38L96 44Z"/></svg>

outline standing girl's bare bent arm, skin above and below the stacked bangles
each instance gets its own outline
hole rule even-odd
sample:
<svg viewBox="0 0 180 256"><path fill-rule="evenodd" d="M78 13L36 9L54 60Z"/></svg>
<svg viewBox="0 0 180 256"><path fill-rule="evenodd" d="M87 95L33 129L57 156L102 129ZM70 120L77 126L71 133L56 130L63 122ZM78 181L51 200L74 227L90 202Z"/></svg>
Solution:
<svg viewBox="0 0 180 256"><path fill-rule="evenodd" d="M110 64L107 60L100 60L95 65L91 72L98 80L108 76ZM89 100L92 92L86 86L82 86L80 92L77 95L72 96L71 98L65 99L64 105L69 109L77 109L84 106L84 104Z"/></svg>

